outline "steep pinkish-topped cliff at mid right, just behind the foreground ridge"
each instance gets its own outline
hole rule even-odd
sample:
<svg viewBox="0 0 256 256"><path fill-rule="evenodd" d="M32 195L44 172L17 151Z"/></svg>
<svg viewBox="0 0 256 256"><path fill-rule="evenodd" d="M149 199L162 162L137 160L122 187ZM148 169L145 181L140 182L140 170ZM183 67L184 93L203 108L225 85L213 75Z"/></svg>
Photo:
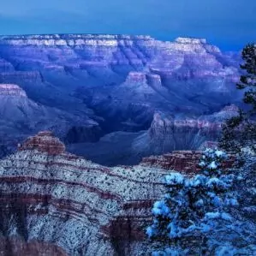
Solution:
<svg viewBox="0 0 256 256"><path fill-rule="evenodd" d="M148 143L154 153L173 150L198 149L205 141L216 141L223 122L238 115L238 108L230 105L212 115L199 117L170 116L163 112L154 114L148 130Z"/></svg>

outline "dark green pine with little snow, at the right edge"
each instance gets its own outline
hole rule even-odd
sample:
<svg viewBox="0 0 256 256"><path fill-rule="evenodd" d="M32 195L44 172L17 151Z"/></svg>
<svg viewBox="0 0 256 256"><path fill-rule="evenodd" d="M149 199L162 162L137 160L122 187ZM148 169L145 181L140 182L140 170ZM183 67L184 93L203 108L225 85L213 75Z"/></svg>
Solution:
<svg viewBox="0 0 256 256"><path fill-rule="evenodd" d="M241 69L245 74L241 75L238 89L245 90L243 101L252 106L251 110L240 110L238 116L234 116L223 123L223 133L219 139L219 146L227 152L241 153L244 148L256 153L256 123L253 118L256 114L256 45L248 44L242 51Z"/></svg>

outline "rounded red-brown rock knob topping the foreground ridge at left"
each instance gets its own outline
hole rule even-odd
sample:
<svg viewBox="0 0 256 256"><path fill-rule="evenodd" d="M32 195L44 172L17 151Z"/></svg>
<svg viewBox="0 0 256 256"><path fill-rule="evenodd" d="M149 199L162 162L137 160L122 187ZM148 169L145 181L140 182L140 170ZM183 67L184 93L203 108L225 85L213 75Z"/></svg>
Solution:
<svg viewBox="0 0 256 256"><path fill-rule="evenodd" d="M54 137L51 131L39 132L36 136L28 138L18 149L19 151L37 149L49 155L59 155L65 152L64 144Z"/></svg>

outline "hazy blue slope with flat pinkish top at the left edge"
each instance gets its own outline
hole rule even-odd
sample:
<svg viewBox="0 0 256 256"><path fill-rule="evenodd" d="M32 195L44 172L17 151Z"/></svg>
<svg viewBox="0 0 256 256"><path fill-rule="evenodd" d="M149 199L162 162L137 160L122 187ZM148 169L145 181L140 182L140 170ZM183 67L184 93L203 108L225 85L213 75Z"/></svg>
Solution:
<svg viewBox="0 0 256 256"><path fill-rule="evenodd" d="M0 155L4 156L18 141L41 129L51 129L62 136L75 123L88 128L98 125L87 116L81 119L66 111L35 103L20 86L0 84Z"/></svg>

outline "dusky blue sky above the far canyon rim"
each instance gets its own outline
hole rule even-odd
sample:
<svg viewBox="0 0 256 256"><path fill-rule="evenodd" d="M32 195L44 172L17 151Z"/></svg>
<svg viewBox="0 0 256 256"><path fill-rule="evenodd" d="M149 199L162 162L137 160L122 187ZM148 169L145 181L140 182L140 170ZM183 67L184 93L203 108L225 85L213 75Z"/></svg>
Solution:
<svg viewBox="0 0 256 256"><path fill-rule="evenodd" d="M0 34L124 33L256 42L256 0L0 0Z"/></svg>

